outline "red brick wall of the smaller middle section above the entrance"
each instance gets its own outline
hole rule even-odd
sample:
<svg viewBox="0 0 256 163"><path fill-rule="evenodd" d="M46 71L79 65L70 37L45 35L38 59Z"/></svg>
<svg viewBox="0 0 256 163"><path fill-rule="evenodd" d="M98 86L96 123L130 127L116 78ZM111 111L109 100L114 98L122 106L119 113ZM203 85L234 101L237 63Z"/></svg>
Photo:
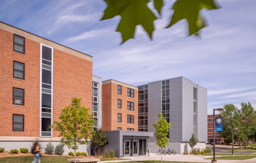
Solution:
<svg viewBox="0 0 256 163"><path fill-rule="evenodd" d="M122 84L120 84L122 85ZM122 108L117 108L117 99L122 100ZM134 111L127 110L127 101L134 102ZM117 113L122 114L122 122L117 122ZM134 116L134 124L127 123L127 115ZM117 84L102 85L102 121L103 130L122 130L134 128L138 131L138 91L134 90L134 98L127 96L127 87L122 86L122 94L117 94Z"/></svg>

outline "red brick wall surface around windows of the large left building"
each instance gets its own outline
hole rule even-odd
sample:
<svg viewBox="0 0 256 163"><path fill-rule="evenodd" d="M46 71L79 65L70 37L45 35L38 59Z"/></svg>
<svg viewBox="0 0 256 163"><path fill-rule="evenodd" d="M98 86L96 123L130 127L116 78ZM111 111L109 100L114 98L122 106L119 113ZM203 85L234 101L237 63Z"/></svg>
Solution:
<svg viewBox="0 0 256 163"><path fill-rule="evenodd" d="M25 55L13 51L13 33L0 29L0 136L39 136L40 43L25 39ZM12 77L13 61L25 63L25 80ZM24 106L12 105L12 87L25 89ZM53 121L71 97L92 108L92 62L53 49ZM91 111L90 111L91 113ZM24 132L12 132L12 114L24 115ZM58 133L53 132L53 137Z"/></svg>

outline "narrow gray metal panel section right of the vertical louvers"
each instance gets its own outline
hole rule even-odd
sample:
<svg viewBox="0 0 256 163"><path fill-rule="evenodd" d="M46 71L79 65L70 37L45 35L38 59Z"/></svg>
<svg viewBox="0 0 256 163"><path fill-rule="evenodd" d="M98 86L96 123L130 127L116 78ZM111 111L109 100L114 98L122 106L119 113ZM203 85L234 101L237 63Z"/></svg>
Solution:
<svg viewBox="0 0 256 163"><path fill-rule="evenodd" d="M197 86L197 139L207 142L207 89Z"/></svg>

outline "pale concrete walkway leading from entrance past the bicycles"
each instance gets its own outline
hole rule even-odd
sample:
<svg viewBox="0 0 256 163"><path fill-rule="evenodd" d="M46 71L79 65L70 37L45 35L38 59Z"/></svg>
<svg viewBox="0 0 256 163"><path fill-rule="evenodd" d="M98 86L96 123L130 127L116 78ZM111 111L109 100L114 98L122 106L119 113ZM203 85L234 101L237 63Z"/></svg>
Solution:
<svg viewBox="0 0 256 163"><path fill-rule="evenodd" d="M202 162L202 163L210 163L211 160L204 160L204 158L212 158L212 156L188 155L188 154L175 154L175 155L171 154L171 155L163 155L162 157L164 161L188 161L188 162ZM98 163L161 160L161 155L150 153L149 157L133 156L133 157L122 157L122 158L131 159L131 160L99 161ZM252 158L249 160L218 160L217 163L256 163L256 158Z"/></svg>

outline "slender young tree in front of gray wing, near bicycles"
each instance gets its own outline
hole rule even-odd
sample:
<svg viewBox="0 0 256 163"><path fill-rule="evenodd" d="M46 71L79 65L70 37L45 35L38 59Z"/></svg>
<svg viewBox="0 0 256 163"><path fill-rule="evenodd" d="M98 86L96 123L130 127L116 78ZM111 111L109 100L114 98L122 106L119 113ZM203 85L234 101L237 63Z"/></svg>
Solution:
<svg viewBox="0 0 256 163"><path fill-rule="evenodd" d="M169 144L169 138L167 137L169 132L169 128L171 126L170 123L168 123L162 113L158 113L159 120L156 120L156 124L153 124L153 127L156 128L155 136L156 136L156 145L162 148L166 147L166 145ZM161 163L162 163L162 152L161 152Z"/></svg>

